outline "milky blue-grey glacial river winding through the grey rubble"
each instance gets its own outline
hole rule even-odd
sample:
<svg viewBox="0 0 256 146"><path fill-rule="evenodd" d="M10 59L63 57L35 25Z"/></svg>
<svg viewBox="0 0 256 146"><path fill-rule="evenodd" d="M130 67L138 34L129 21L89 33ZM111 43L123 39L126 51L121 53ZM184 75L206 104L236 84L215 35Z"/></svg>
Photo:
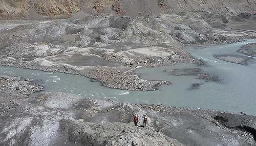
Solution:
<svg viewBox="0 0 256 146"><path fill-rule="evenodd" d="M183 63L138 69L136 72L141 74L141 78L172 82L172 85L160 86L158 91L111 89L101 86L99 82L91 82L90 79L83 76L5 66L0 66L0 74L19 75L38 80L45 87L44 91L47 92L69 92L85 98L218 109L232 113L242 111L256 115L256 58L249 60L247 65L241 65L213 57L214 55L243 55L237 52L239 47L252 42L256 42L256 39L225 45L185 47L191 55L205 61L205 66ZM199 68L210 75L218 76L220 81L206 82L206 80L198 79L194 74L177 76L187 73L184 72L185 69L193 68ZM172 74L174 70L176 70L175 75ZM191 88L196 83L200 85Z"/></svg>

